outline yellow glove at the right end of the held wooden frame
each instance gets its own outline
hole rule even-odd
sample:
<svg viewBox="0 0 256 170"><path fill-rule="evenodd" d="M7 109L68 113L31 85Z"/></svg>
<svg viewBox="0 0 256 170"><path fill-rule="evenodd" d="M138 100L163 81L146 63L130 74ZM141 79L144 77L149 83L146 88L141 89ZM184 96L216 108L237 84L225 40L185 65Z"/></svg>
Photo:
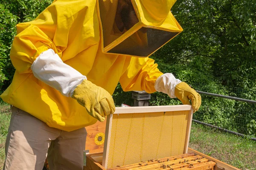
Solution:
<svg viewBox="0 0 256 170"><path fill-rule="evenodd" d="M191 105L194 113L198 111L201 106L201 96L193 88L189 87L186 82L180 82L175 87L175 96L183 103L183 105Z"/></svg>

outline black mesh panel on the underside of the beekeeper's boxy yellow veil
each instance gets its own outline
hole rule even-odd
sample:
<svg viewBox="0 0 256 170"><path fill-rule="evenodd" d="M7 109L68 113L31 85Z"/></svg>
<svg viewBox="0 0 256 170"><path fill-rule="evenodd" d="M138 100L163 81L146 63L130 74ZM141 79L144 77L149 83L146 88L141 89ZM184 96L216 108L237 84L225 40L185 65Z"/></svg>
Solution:
<svg viewBox="0 0 256 170"><path fill-rule="evenodd" d="M177 34L178 32L168 32L153 28L140 28L140 30L108 52L146 57Z"/></svg>

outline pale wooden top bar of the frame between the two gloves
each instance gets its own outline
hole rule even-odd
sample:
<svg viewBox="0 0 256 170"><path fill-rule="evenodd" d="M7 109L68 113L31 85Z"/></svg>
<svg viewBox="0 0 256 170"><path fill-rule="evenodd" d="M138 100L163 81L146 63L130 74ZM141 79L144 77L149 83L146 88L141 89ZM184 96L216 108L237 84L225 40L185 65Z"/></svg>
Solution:
<svg viewBox="0 0 256 170"><path fill-rule="evenodd" d="M189 111L191 105L172 105L172 106L142 106L142 107L117 107L114 114L122 113L152 113L165 111Z"/></svg>

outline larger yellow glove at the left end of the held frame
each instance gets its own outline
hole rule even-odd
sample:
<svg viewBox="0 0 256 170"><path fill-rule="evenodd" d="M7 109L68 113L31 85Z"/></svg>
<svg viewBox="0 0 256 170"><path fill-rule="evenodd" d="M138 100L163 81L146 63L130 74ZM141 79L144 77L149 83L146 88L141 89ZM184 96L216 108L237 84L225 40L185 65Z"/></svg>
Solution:
<svg viewBox="0 0 256 170"><path fill-rule="evenodd" d="M105 116L113 114L116 109L113 98L108 91L86 79L76 87L72 98L76 99L91 116L100 122L105 120Z"/></svg>

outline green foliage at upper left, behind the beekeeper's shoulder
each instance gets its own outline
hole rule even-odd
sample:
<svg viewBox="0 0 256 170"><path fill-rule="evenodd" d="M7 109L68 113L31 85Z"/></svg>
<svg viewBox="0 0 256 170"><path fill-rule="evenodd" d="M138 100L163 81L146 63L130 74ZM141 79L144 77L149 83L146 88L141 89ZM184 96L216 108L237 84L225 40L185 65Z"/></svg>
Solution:
<svg viewBox="0 0 256 170"><path fill-rule="evenodd" d="M15 69L9 57L16 24L34 20L52 0L0 0L0 93L11 83Z"/></svg>

